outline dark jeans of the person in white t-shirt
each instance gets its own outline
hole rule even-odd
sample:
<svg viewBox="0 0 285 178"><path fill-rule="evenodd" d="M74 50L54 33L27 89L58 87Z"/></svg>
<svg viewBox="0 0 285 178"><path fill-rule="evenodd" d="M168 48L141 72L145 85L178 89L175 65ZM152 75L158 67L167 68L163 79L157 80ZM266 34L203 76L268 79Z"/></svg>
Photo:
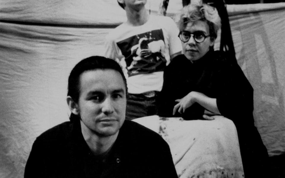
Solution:
<svg viewBox="0 0 285 178"><path fill-rule="evenodd" d="M126 120L157 114L156 97L146 97L144 94L128 94Z"/></svg>

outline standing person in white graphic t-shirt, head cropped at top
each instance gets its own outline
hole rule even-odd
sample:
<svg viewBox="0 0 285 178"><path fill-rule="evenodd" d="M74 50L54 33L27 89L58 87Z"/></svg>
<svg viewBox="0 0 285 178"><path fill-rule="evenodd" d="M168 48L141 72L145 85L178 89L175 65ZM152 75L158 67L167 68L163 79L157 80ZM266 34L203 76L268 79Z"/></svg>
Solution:
<svg viewBox="0 0 285 178"><path fill-rule="evenodd" d="M181 54L178 28L170 17L149 15L146 0L117 0L127 21L106 37L104 56L125 71L129 89L126 119L155 115L163 70Z"/></svg>

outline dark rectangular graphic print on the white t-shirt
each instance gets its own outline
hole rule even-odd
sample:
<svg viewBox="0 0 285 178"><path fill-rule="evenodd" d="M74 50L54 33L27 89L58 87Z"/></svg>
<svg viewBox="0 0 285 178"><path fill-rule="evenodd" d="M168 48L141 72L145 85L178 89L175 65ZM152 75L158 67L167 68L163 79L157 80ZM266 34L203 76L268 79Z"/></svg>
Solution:
<svg viewBox="0 0 285 178"><path fill-rule="evenodd" d="M129 77L163 71L166 66L162 29L134 35L117 45L124 55Z"/></svg>

